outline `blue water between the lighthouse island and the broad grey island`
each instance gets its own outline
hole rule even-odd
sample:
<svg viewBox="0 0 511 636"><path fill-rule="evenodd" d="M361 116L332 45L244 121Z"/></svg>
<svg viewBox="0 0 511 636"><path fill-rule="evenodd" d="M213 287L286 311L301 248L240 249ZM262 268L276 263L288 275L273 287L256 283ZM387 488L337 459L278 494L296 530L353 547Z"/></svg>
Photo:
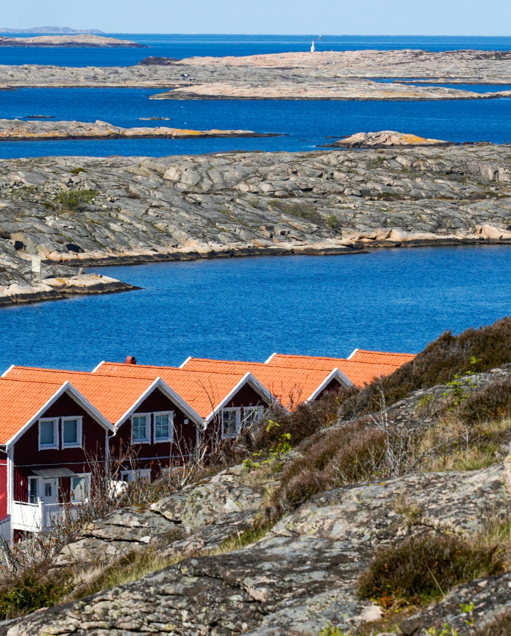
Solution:
<svg viewBox="0 0 511 636"><path fill-rule="evenodd" d="M499 90L491 87L491 90ZM0 141L0 158L48 155L187 155L233 149L309 151L343 135L399 130L447 141L511 141L511 99L439 102L150 100L134 88L26 88L0 91L0 118L108 121L123 127L241 128L286 136L248 139ZM141 117L168 117L143 121ZM333 137L333 139L327 139Z"/></svg>

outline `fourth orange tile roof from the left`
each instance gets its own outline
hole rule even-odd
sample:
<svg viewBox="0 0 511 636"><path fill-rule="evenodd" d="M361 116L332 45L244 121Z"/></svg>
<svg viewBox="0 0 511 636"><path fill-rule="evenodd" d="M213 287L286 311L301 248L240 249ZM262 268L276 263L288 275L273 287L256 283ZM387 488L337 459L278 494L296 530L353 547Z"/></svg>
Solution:
<svg viewBox="0 0 511 636"><path fill-rule="evenodd" d="M333 369L334 367L326 369L306 368L304 366L284 368L258 362L209 360L207 358L191 357L183 366L183 370L206 373L227 373L229 370L242 374L250 372L286 408L293 408L297 403L309 399L328 378Z"/></svg>

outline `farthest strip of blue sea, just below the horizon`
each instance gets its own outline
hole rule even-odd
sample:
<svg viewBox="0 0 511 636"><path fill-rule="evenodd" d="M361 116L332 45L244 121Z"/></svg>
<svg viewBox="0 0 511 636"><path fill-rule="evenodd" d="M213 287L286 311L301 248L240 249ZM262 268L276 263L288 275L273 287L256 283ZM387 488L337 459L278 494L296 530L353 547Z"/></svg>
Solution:
<svg viewBox="0 0 511 636"><path fill-rule="evenodd" d="M0 33L0 35L2 35ZM27 34L6 33L10 37ZM42 35L42 34L37 34ZM194 55L259 55L308 51L314 39L318 51L354 51L365 49L392 50L400 48L427 51L479 49L506 51L511 49L511 37L479 36L333 36L310 34L223 35L223 34L147 34L105 33L119 39L129 39L148 48L18 48L0 47L0 64L55 64L56 66L131 66L148 55L183 59Z"/></svg>

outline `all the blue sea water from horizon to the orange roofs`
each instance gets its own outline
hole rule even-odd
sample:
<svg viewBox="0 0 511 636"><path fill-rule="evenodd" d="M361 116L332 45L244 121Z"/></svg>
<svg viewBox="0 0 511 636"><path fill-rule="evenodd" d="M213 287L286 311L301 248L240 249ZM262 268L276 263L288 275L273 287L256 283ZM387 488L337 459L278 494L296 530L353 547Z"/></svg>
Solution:
<svg viewBox="0 0 511 636"><path fill-rule="evenodd" d="M314 36L133 35L145 49L0 48L0 64L128 66L147 55L253 55L307 50ZM124 36L123 36L124 37ZM511 38L323 36L318 50L508 50ZM460 86L461 88L461 86ZM506 90L508 86L467 86ZM0 142L0 158L47 155L310 150L361 130L400 130L451 141L511 141L511 100L439 102L149 100L159 91L23 89L0 92L0 118L123 127L244 128L269 139ZM170 121L141 121L168 117ZM0 310L0 370L12 363L90 370L101 359L180 364L208 356L262 361L275 350L347 356L355 347L416 352L511 312L511 247L377 251L101 268L141 291Z"/></svg>

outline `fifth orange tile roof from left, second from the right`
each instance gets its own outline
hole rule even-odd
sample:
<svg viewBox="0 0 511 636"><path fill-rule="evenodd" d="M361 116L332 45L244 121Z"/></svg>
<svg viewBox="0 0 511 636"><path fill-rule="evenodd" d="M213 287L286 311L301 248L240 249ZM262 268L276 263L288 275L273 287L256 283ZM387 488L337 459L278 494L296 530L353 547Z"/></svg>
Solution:
<svg viewBox="0 0 511 636"><path fill-rule="evenodd" d="M295 356L291 354L275 354L267 363L272 367L294 367L333 370L338 368L353 384L359 388L369 384L379 376L389 375L395 371L400 364L390 364L388 362L369 362L358 360L346 360L344 358L334 358L326 356Z"/></svg>

